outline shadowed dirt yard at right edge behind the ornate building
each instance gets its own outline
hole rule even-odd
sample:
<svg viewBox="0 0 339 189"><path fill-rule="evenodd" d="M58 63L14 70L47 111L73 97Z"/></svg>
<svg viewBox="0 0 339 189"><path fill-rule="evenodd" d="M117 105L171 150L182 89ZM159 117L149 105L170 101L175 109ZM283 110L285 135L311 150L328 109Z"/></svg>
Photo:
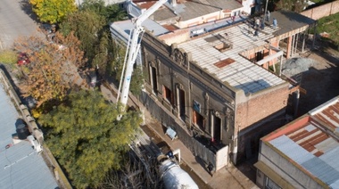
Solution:
<svg viewBox="0 0 339 189"><path fill-rule="evenodd" d="M316 63L302 73L301 86L307 93L300 96L298 116L339 95L339 52L319 39L313 50L300 56Z"/></svg>

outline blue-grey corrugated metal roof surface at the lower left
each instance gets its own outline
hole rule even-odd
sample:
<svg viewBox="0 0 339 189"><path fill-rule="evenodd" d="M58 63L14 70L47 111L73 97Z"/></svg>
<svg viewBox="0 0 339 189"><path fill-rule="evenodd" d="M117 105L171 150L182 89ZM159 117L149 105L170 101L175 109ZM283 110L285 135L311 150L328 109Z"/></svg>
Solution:
<svg viewBox="0 0 339 189"><path fill-rule="evenodd" d="M12 143L19 114L0 84L0 187L1 188L58 188L43 157L33 150L29 141Z"/></svg>

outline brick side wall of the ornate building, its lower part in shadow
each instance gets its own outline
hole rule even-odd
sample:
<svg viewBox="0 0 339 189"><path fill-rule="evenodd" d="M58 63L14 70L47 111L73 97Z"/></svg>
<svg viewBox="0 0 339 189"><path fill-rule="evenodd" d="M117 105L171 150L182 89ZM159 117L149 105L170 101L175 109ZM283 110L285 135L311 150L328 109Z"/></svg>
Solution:
<svg viewBox="0 0 339 189"><path fill-rule="evenodd" d="M284 125L288 83L248 98L248 102L237 105L237 161L252 158L258 152L260 137Z"/></svg>

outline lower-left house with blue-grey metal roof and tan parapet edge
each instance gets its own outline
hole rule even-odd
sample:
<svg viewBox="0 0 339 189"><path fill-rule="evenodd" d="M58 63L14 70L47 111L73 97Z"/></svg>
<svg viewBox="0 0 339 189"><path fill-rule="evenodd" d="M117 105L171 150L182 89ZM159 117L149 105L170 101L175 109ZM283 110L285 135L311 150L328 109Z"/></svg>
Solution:
<svg viewBox="0 0 339 189"><path fill-rule="evenodd" d="M0 187L71 188L2 69L0 107Z"/></svg>

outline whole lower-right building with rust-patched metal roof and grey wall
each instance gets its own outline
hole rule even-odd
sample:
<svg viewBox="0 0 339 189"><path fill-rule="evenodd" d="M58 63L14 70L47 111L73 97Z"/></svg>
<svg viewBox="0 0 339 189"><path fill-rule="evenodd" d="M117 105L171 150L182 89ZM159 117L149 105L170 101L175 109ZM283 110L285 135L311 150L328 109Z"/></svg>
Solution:
<svg viewBox="0 0 339 189"><path fill-rule="evenodd" d="M339 188L339 97L260 140L260 188Z"/></svg>

